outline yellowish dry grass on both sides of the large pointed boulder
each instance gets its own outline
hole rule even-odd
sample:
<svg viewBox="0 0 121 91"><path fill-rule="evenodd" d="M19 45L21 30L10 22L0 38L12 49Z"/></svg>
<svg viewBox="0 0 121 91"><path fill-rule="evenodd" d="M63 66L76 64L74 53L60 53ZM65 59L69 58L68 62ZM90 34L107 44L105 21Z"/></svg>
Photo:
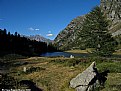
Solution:
<svg viewBox="0 0 121 91"><path fill-rule="evenodd" d="M65 60L70 61L70 58L43 58L43 57L35 57L29 58L21 61L30 62L28 65L18 66L11 68L11 75L14 76L18 80L33 80L37 84L39 88L42 88L44 91L75 91L74 89L69 87L70 80L75 77L77 74L85 70L91 62L84 62L82 64L78 64L75 66L65 66L64 63L52 62L52 60ZM77 60L77 59L73 59ZM80 59L78 59L80 60ZM80 60L81 61L81 60ZM70 61L71 62L71 61ZM110 62L109 62L110 63ZM110 68L108 62L97 62L97 67L106 66ZM112 62L112 64L118 64ZM121 62L119 62L121 64ZM103 65L105 64L105 65ZM42 67L45 70L40 70L39 72L33 72L29 74L21 73L23 67L27 68L34 67ZM114 68L112 65L112 68ZM18 74L19 73L19 74ZM108 76L108 80L106 82L105 88L101 91L121 91L119 90L121 86L121 73L110 73Z"/></svg>

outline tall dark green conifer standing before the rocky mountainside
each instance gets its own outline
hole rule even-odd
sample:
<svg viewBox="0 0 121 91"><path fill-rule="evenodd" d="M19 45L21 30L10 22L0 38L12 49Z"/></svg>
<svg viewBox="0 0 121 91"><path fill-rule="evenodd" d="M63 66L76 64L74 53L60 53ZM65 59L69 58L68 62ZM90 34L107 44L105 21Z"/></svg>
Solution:
<svg viewBox="0 0 121 91"><path fill-rule="evenodd" d="M108 33L108 20L98 6L85 16L80 36L87 48L94 48L95 55L110 56L115 50L116 42Z"/></svg>

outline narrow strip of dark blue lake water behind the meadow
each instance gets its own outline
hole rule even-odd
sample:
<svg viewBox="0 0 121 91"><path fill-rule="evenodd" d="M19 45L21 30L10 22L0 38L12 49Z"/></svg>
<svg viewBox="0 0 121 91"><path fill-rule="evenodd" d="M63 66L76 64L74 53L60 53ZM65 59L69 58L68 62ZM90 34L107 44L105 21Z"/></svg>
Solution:
<svg viewBox="0 0 121 91"><path fill-rule="evenodd" d="M63 57L88 57L89 55L86 53L68 53L68 52L47 52L43 53L40 56L42 57L57 57L57 56L63 56Z"/></svg>

